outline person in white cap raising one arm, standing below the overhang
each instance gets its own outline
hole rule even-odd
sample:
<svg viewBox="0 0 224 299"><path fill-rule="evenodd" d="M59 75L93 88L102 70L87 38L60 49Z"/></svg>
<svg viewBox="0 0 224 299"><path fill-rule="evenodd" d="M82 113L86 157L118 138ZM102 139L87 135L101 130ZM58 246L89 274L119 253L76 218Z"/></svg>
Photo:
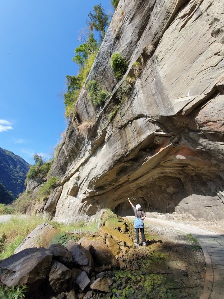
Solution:
<svg viewBox="0 0 224 299"><path fill-rule="evenodd" d="M146 246L146 240L145 240L145 232L144 232L144 223L143 220L146 217L146 214L142 211L142 208L140 204L137 204L136 207L132 204L130 199L127 199L132 206L134 210L134 228L135 228L135 233L136 233L136 243L134 243L136 246L139 246L139 230L141 231L141 238L143 242L143 246Z"/></svg>

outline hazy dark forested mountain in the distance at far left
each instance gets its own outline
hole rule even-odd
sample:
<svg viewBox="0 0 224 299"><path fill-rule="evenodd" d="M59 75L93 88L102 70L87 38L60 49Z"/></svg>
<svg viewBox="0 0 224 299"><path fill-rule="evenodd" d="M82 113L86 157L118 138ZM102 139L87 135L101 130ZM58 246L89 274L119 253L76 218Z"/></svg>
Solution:
<svg viewBox="0 0 224 299"><path fill-rule="evenodd" d="M12 201L24 191L29 167L20 156L0 148L0 203L8 203L10 196Z"/></svg>

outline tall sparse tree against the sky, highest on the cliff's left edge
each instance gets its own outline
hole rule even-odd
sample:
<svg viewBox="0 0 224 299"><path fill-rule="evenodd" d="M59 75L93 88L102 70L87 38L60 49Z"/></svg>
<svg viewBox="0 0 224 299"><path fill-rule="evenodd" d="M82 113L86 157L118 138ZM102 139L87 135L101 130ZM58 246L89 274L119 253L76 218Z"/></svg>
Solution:
<svg viewBox="0 0 224 299"><path fill-rule="evenodd" d="M101 4L93 7L93 12L88 14L87 24L91 31L96 30L100 34L100 41L104 39L107 27L110 23L109 16L104 12Z"/></svg>

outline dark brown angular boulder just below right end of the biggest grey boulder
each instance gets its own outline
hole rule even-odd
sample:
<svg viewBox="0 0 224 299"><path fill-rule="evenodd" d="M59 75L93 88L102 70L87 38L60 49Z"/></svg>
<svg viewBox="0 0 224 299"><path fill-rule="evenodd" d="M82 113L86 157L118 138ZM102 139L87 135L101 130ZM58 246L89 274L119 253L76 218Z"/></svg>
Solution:
<svg viewBox="0 0 224 299"><path fill-rule="evenodd" d="M49 273L49 282L55 293L67 291L71 286L71 270L65 265L53 261Z"/></svg>

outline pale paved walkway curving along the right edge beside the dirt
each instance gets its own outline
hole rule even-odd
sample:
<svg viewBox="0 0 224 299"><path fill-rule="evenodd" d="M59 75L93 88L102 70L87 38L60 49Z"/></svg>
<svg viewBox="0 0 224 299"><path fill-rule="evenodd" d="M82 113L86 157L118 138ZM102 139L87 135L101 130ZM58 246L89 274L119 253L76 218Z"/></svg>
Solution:
<svg viewBox="0 0 224 299"><path fill-rule="evenodd" d="M224 234L191 224L156 218L147 217L144 221L171 226L197 238L206 262L205 285L200 299L224 299Z"/></svg>

